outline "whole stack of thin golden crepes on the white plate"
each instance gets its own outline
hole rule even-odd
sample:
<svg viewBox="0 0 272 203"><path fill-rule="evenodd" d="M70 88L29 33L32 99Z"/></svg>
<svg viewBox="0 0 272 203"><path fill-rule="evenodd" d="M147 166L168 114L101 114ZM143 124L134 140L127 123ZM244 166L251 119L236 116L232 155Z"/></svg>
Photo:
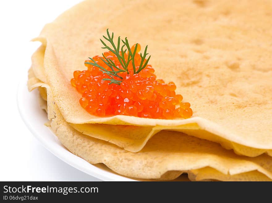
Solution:
<svg viewBox="0 0 272 203"><path fill-rule="evenodd" d="M85 1L47 24L28 88L68 150L132 178L272 180L271 1ZM188 119L96 117L70 79L101 55L109 28L148 44L157 78L191 103ZM47 105L46 105L47 103Z"/></svg>

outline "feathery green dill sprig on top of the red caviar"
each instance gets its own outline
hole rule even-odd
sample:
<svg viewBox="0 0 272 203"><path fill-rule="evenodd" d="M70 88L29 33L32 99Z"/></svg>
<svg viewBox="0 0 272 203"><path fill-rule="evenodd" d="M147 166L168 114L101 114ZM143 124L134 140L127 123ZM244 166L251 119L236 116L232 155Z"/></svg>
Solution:
<svg viewBox="0 0 272 203"><path fill-rule="evenodd" d="M146 66L147 66L147 63L150 59L151 56L149 56L146 60L145 63L144 60L147 56L147 46L144 50L144 53L142 55L142 53L140 54L140 57L141 57L141 62L140 62L140 66L138 67L138 70L136 70L136 67L135 67L135 62L134 62L134 57L136 55L136 51L137 51L137 47L138 47L138 43L135 44L135 48L134 48L134 51L132 53L131 49L130 49L130 45L129 45L129 42L127 40L127 37L125 38L125 40L121 40L121 37L119 36L118 37L118 40L117 40L117 46L114 44L113 42L113 33L110 35L109 32L108 32L108 29L107 29L107 36L104 36L103 35L103 38L105 40L107 40L111 45L112 45L112 48L109 47L103 40L100 39L101 43L104 45L104 47L101 47L102 49L108 49L110 52L112 52L113 54L116 55L119 63L121 64L121 67L119 66L116 66L115 63L110 59L110 58L107 58L104 56L104 54L102 53L103 57L100 57L100 59L108 66L110 67L111 70L106 70L105 68L103 68L102 66L100 66L99 64L96 63L96 61L94 59L92 59L91 57L89 57L89 59L91 59L91 61L93 61L93 63L91 62L85 62L86 64L90 64L92 66L96 66L98 68L100 68L100 70L107 74L110 78L103 78L103 80L108 80L108 81L111 81L109 84L112 84L112 83L115 83L115 84L118 84L120 85L121 82L122 82L122 77L120 75L118 75L119 73L121 72L127 72L127 74L129 74L129 70L128 70L128 66L129 66L129 63L131 61L132 63L132 67L133 67L133 73L134 74L137 74L139 73L141 70L143 70ZM120 43L123 43L122 45ZM121 48L121 54L120 54L120 48ZM127 59L125 59L125 53L128 51L128 57ZM119 79L115 79L114 77L117 77Z"/></svg>

